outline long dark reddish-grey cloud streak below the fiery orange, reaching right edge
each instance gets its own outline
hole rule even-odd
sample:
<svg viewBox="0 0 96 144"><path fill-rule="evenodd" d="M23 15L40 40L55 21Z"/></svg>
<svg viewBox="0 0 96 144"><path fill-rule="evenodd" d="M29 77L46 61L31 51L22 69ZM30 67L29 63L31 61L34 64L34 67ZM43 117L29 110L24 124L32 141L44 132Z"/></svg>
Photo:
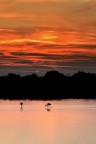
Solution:
<svg viewBox="0 0 96 144"><path fill-rule="evenodd" d="M26 53L26 52L11 52L11 55L14 56L31 56L31 57L40 57L40 58L46 58L46 59L53 59L53 60L58 60L58 59L83 59L83 60L96 60L96 56L95 55L90 55L90 53L76 53L73 52L70 55L64 55L64 54L46 54L46 53Z"/></svg>

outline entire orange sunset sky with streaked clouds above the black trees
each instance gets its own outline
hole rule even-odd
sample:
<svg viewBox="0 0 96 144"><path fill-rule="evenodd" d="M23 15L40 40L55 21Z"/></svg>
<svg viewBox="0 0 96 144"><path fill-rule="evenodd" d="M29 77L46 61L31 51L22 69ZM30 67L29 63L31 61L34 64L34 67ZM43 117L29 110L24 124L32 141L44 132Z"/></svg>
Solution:
<svg viewBox="0 0 96 144"><path fill-rule="evenodd" d="M96 0L0 0L0 75L96 73Z"/></svg>

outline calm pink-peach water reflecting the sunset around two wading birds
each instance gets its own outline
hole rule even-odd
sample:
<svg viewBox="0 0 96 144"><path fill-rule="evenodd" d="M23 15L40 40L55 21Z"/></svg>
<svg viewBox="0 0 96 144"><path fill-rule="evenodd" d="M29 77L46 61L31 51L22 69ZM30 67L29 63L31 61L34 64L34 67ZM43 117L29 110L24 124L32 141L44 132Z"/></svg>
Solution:
<svg viewBox="0 0 96 144"><path fill-rule="evenodd" d="M96 144L96 101L0 101L1 144Z"/></svg>

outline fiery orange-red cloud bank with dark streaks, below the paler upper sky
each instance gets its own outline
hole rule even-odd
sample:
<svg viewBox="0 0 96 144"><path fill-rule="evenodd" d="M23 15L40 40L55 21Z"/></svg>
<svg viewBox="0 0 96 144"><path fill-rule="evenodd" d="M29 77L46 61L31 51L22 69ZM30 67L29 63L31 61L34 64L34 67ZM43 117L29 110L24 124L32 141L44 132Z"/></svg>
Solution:
<svg viewBox="0 0 96 144"><path fill-rule="evenodd" d="M50 27L1 28L0 66L36 70L95 68L95 33Z"/></svg>

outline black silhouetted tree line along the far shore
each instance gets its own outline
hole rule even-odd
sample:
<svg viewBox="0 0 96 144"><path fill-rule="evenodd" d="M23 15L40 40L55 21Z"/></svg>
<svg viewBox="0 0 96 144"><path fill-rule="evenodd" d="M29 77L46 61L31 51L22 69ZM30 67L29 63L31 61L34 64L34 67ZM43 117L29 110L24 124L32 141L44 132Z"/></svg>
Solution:
<svg viewBox="0 0 96 144"><path fill-rule="evenodd" d="M35 73L21 77L16 74L0 76L0 99L96 99L96 74L78 72L65 76L49 71L44 76Z"/></svg>

